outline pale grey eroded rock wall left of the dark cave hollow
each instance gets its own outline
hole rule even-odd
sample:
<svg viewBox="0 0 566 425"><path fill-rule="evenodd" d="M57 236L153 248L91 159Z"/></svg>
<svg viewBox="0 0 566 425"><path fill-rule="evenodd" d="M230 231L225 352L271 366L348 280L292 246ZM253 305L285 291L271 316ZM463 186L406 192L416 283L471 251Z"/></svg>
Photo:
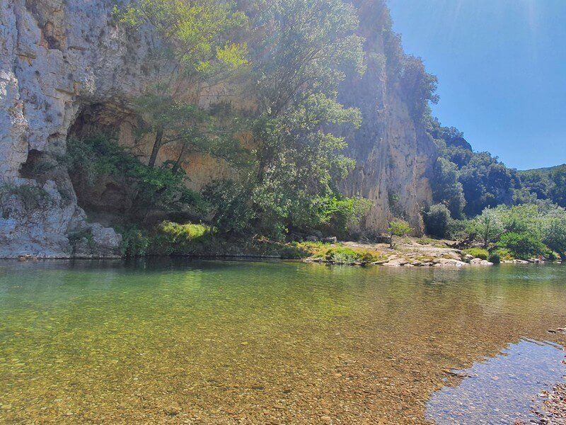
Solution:
<svg viewBox="0 0 566 425"><path fill-rule="evenodd" d="M64 153L82 108L120 108L151 77L143 58L153 40L127 37L112 20L111 1L0 0L0 256L117 254L120 236L86 222L64 169L21 179L30 152ZM21 204L33 192L26 186L50 194L50 207L36 213ZM81 232L86 248L69 240Z"/></svg>

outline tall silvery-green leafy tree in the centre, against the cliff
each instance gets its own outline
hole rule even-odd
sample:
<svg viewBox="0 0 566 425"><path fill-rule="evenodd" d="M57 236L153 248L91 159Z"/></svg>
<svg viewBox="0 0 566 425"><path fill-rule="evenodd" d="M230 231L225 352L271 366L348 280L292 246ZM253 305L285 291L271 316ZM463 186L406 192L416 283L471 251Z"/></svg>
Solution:
<svg viewBox="0 0 566 425"><path fill-rule="evenodd" d="M259 4L255 19L262 37L250 45L259 108L249 199L255 226L281 235L306 221L321 225L319 200L335 196L354 164L330 128L361 122L337 102L337 87L347 69L364 71L362 38L355 9L341 0L275 0Z"/></svg>

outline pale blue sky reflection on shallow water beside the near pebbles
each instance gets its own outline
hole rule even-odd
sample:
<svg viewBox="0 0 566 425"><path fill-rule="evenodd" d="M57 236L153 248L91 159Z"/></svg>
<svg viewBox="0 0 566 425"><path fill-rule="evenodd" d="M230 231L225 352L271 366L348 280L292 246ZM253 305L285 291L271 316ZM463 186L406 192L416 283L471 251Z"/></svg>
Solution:
<svg viewBox="0 0 566 425"><path fill-rule="evenodd" d="M437 424L514 424L529 422L533 398L562 381L562 346L524 339L501 354L455 373L466 376L444 387L427 404Z"/></svg>

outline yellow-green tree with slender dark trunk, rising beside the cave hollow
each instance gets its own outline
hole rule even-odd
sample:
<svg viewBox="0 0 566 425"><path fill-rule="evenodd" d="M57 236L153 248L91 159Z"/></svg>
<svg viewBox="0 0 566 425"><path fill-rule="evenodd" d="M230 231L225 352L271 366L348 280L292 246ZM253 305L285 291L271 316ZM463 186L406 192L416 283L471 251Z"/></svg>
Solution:
<svg viewBox="0 0 566 425"><path fill-rule="evenodd" d="M134 102L143 118L139 132L154 135L149 166L168 143L180 145L177 166L191 149L206 149L226 130L199 106L203 86L228 79L247 64L246 45L233 42L246 16L230 1L137 0L115 9L129 30L151 28L158 40L146 69L153 69L154 84ZM212 140L211 140L212 139Z"/></svg>

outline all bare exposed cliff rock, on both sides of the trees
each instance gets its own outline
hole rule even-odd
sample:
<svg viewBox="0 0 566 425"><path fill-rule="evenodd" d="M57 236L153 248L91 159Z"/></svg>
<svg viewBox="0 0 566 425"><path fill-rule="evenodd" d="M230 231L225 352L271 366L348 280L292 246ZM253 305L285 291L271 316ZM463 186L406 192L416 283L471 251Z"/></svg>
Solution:
<svg viewBox="0 0 566 425"><path fill-rule="evenodd" d="M0 0L0 256L118 254L120 236L86 221L75 193L80 185L57 163L69 134L88 125L117 128L121 139L131 135L127 104L152 79L144 57L156 41L120 30L113 3ZM358 166L343 190L374 201L364 229L379 232L395 212L420 230L434 148L380 64L388 55L381 34L386 7L382 0L354 4L369 69L362 79L349 76L341 89L342 102L364 115L362 128L347 135ZM226 172L210 159L192 164L193 182ZM30 194L45 204L30 203Z"/></svg>

